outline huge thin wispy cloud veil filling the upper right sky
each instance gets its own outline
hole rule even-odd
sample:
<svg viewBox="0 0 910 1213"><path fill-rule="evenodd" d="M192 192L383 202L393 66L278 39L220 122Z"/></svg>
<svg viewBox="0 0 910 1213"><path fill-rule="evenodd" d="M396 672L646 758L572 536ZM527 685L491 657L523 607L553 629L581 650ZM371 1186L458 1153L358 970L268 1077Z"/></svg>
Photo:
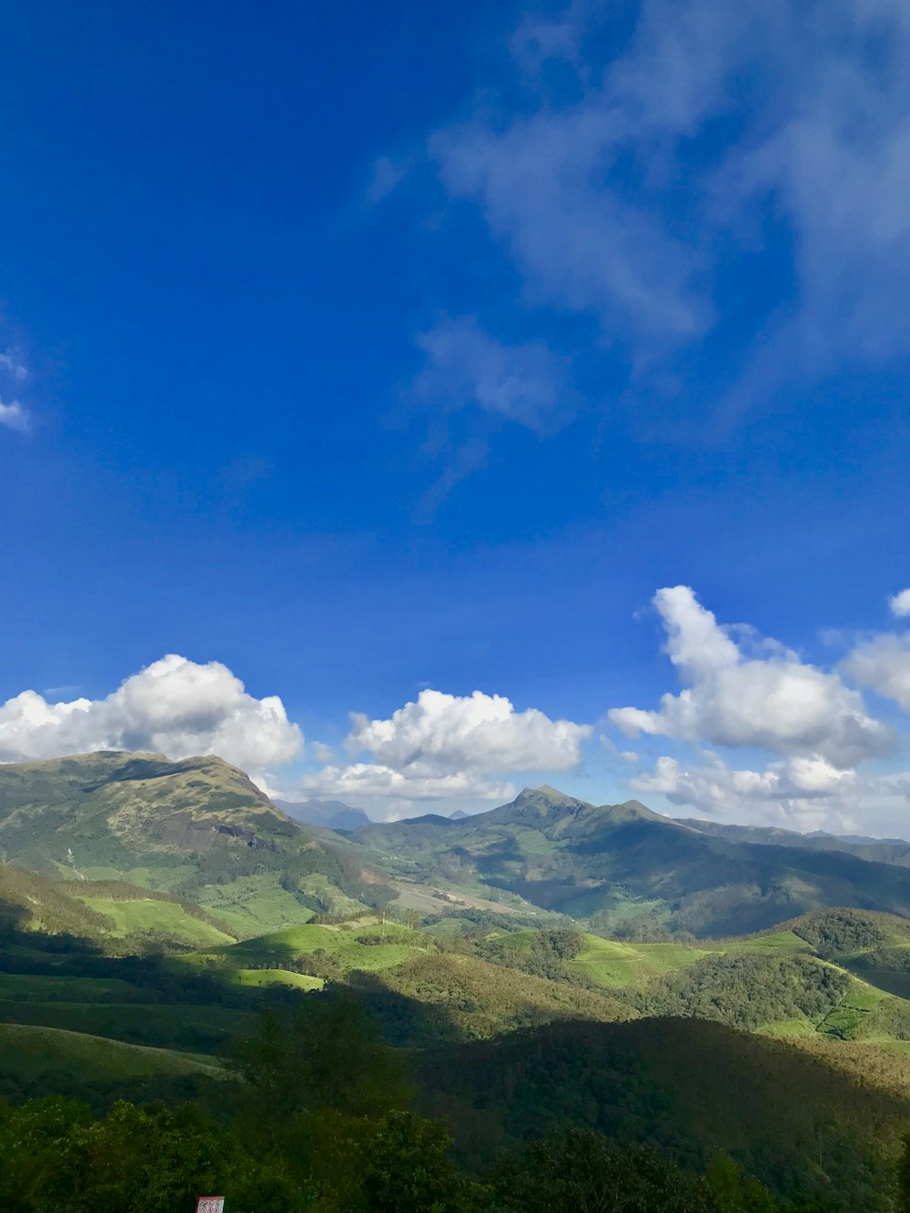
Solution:
<svg viewBox="0 0 910 1213"><path fill-rule="evenodd" d="M764 254L790 273L746 377L881 364L910 351L909 11L642 0L627 38L574 2L519 25L499 102L484 90L431 156L522 302L593 317L638 370L704 337Z"/></svg>

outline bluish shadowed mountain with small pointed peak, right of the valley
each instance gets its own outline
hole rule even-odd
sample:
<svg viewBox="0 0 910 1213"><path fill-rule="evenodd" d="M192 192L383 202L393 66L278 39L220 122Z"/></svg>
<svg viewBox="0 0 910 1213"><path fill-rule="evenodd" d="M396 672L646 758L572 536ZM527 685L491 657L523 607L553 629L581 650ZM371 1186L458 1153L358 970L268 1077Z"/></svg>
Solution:
<svg viewBox="0 0 910 1213"><path fill-rule="evenodd" d="M345 837L399 888L536 906L604 934L722 936L838 905L910 916L905 867L718 837L637 801L593 805L546 786L462 820L430 815Z"/></svg>

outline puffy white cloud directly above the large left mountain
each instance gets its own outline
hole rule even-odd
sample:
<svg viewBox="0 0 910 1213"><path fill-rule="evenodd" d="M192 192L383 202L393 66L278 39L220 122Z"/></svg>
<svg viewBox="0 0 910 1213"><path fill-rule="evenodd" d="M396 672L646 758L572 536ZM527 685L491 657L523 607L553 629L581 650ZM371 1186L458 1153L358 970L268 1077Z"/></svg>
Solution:
<svg viewBox="0 0 910 1213"><path fill-rule="evenodd" d="M95 750L217 753L260 770L291 762L303 738L277 695L255 699L218 661L170 654L126 678L107 699L49 702L25 690L0 706L0 761Z"/></svg>

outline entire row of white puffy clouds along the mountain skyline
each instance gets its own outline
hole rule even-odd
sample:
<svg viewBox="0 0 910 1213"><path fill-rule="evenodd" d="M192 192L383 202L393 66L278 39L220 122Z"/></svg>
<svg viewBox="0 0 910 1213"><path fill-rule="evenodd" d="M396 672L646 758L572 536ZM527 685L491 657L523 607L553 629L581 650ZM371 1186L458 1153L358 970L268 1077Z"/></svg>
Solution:
<svg viewBox="0 0 910 1213"><path fill-rule="evenodd" d="M825 670L749 625L721 623L689 586L664 587L652 602L682 688L656 707L607 710L601 723L638 739L636 750L608 733L588 748L593 725L505 695L426 688L387 717L351 712L343 745L314 741L303 764L302 731L279 696L250 695L221 662L171 654L104 699L52 702L25 690L7 700L0 761L217 753L269 795L331 796L402 816L501 803L518 779L591 780L599 756L616 788L727 819L853 828L870 807L880 819L900 810L910 781L892 759L905 739L900 712L910 712L910 632L865 633ZM880 719L859 688L899 711Z"/></svg>

